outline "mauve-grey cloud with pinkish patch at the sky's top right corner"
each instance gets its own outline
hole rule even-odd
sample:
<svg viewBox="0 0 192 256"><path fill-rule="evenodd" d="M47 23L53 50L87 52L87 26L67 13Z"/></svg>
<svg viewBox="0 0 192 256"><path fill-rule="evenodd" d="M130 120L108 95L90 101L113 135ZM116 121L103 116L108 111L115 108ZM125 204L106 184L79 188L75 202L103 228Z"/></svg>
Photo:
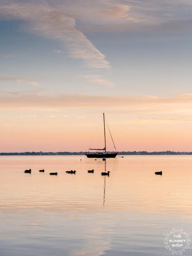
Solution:
<svg viewBox="0 0 192 256"><path fill-rule="evenodd" d="M53 3L53 2L52 2ZM178 33L191 30L190 0L144 1L54 1L55 5L78 20L81 31Z"/></svg>

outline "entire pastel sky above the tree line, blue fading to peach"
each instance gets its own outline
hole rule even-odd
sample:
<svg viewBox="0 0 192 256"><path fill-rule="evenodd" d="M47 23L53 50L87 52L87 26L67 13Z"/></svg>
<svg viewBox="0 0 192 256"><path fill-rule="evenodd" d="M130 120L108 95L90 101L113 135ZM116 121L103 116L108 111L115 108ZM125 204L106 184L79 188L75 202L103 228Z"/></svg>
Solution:
<svg viewBox="0 0 192 256"><path fill-rule="evenodd" d="M102 112L119 151L192 151L191 15L191 0L2 0L0 151L103 148Z"/></svg>

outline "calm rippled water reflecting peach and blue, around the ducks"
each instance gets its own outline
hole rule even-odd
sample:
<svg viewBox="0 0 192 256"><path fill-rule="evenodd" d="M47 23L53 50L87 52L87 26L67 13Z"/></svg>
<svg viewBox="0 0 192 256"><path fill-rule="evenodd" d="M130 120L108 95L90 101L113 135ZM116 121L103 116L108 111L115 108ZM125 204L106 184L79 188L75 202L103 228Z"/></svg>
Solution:
<svg viewBox="0 0 192 256"><path fill-rule="evenodd" d="M162 256L171 255L164 233L183 228L192 237L192 156L0 162L2 256ZM77 173L65 173L71 169ZM109 177L100 175L105 169Z"/></svg>

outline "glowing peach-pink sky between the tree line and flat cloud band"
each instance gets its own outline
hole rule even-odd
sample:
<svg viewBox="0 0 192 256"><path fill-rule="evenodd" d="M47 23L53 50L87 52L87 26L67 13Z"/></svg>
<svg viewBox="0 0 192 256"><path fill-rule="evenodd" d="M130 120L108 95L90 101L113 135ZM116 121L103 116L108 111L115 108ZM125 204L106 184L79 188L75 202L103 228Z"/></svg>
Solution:
<svg viewBox="0 0 192 256"><path fill-rule="evenodd" d="M66 117L37 113L20 117L2 126L1 152L87 151L89 147L104 147L102 113ZM191 151L191 121L107 113L106 119L118 151ZM113 151L107 125L106 137L107 149Z"/></svg>

